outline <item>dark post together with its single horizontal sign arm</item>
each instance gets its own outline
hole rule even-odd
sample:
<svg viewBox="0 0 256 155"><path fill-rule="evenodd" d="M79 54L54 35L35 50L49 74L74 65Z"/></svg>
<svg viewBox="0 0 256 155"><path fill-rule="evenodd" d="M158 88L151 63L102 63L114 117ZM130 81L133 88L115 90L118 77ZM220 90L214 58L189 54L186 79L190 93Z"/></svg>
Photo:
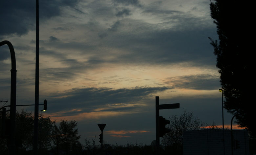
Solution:
<svg viewBox="0 0 256 155"><path fill-rule="evenodd" d="M180 108L180 103L161 104L159 105L159 96L156 96L156 155L160 155L160 117L159 110L162 109L177 109Z"/></svg>

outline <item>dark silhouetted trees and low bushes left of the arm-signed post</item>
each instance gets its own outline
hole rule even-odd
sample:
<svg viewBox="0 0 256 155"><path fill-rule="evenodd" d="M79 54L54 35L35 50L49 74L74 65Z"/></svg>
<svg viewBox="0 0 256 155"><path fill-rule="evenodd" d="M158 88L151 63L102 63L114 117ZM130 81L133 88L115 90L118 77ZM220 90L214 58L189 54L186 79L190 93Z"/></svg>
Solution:
<svg viewBox="0 0 256 155"><path fill-rule="evenodd" d="M9 113L7 113L6 122L8 122ZM41 119L40 119L41 118ZM92 139L84 138L84 143L79 141L77 122L61 120L59 125L55 124L50 117L40 117L38 120L38 154L39 155L99 155L101 153L111 152L113 155L136 154L150 155L156 154L156 142L151 145L143 145L142 143L127 143L125 145L107 144L104 141L103 149L101 145L96 145L96 136ZM0 133L3 133L2 113L0 113ZM8 126L8 123L7 123ZM32 112L22 110L16 113L15 128L15 145L17 155L33 154L33 126L34 116ZM6 127L5 135L8 135L8 127ZM3 136L3 135L2 135ZM0 138L0 152L3 155L8 154L8 138ZM98 143L98 142L97 142ZM165 146L166 147L166 146ZM167 148L167 147L166 147ZM161 154L170 154L168 149L161 146Z"/></svg>

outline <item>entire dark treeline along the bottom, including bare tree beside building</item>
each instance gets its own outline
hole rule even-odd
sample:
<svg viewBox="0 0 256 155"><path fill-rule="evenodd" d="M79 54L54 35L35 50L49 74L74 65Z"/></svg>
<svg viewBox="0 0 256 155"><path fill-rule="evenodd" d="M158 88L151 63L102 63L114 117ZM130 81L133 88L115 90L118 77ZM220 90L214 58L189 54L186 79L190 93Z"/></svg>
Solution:
<svg viewBox="0 0 256 155"><path fill-rule="evenodd" d="M0 127L2 125L2 115L0 113ZM108 144L103 141L103 149L98 144L96 136L92 139L83 138L78 133L77 123L75 120L61 120L59 125L55 124L50 117L42 118L39 116L39 137L38 137L38 155L101 155L107 152L112 155L155 155L156 141L152 141L150 145L143 143L129 143L125 145ZM7 122L9 114L7 113ZM169 117L170 124L166 127L171 129L171 132L163 136L160 141L161 155L182 155L183 154L183 131L200 130L200 129L222 129L214 122L211 125L200 121L194 117L193 112L186 110L180 116ZM7 123L8 125L8 123ZM17 155L32 155L33 154L33 126L34 116L32 112L22 110L21 113L16 113L16 132L15 145ZM2 135L2 129L0 133ZM227 128L226 128L227 129ZM8 128L6 135L8 135ZM254 142L253 137L250 139L250 145ZM97 143L97 144L96 144ZM250 146L251 151L253 147ZM1 155L8 154L8 139L0 138L0 153Z"/></svg>

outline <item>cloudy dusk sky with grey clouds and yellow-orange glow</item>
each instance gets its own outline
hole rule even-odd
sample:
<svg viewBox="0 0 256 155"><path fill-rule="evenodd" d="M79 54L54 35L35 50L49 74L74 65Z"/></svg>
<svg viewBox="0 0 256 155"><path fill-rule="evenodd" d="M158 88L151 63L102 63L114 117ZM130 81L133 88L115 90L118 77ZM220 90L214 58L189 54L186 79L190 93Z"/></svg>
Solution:
<svg viewBox="0 0 256 155"><path fill-rule="evenodd" d="M155 96L166 119L193 112L222 126L222 94L211 37L218 40L209 0L40 0L39 104L44 116L78 122L84 138L108 144L155 136ZM35 1L3 1L0 41L16 56L17 102L34 104ZM10 101L11 55L0 47L0 99ZM8 102L7 104L9 104ZM3 106L3 102L0 106ZM24 108L34 113L33 106ZM43 106L39 107L39 110ZM232 115L224 109L224 124ZM235 128L235 127L233 127Z"/></svg>

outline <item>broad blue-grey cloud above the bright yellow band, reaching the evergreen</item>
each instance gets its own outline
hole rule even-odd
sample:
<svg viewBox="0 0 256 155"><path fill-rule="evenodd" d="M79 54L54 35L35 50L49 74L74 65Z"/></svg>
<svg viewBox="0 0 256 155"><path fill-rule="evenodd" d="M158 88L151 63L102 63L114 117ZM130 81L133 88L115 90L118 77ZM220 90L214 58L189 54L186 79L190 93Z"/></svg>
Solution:
<svg viewBox="0 0 256 155"><path fill-rule="evenodd" d="M79 65L87 69L105 63L166 65L184 62L190 66L215 67L216 59L208 39L209 36L216 36L215 30L214 27L195 26L186 30L158 29L157 25L125 19L116 21L105 31L96 32L99 44L44 41L41 45L77 50L81 56L90 54L89 58L86 56L87 61ZM117 54L105 50L106 47L125 52ZM58 53L52 52L53 57L54 53L57 58ZM109 55L112 56L111 59ZM77 62L74 63L76 65Z"/></svg>

